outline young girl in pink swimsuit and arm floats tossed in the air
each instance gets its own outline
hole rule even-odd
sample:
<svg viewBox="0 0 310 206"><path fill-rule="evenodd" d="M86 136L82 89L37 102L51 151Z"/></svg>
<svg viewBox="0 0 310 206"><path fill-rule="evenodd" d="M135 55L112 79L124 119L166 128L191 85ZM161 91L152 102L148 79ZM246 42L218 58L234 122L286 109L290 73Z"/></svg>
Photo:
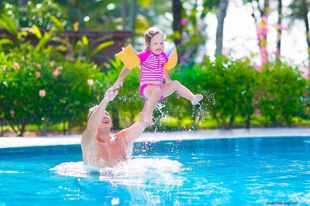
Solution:
<svg viewBox="0 0 310 206"><path fill-rule="evenodd" d="M116 54L124 62L125 68L120 73L113 88L116 89L123 85L124 78L136 66L135 62L138 61L140 64L140 93L146 101L145 122L154 124L152 114L159 100L165 99L176 91L179 95L190 100L195 105L203 96L200 94L194 95L180 82L170 79L169 69L172 68L167 68L165 65L168 63L168 55L163 51L165 46L164 33L161 30L156 27L150 27L145 32L144 39L145 42L143 45L146 48L142 52L136 54L135 50L129 45L122 52ZM122 54L127 53L128 49L130 50L129 55ZM163 83L164 78L166 83Z"/></svg>

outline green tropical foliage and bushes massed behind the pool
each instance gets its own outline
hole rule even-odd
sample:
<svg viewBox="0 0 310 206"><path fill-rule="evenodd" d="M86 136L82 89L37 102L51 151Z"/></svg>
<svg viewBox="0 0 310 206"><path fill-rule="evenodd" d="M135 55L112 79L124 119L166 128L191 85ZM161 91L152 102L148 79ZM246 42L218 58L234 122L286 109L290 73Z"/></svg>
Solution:
<svg viewBox="0 0 310 206"><path fill-rule="evenodd" d="M210 120L220 128L248 128L253 122L266 127L291 126L309 120L309 80L290 62L273 60L265 53L268 14L263 11L269 11L267 4L259 7L257 1L245 1L262 11L256 17L263 63L258 65L252 57L236 60L218 55L211 59L205 55L207 25L203 20L208 12L216 13L218 1L86 1L82 5L81 1L61 0L18 1L25 2L24 5L8 2L3 2L0 10L0 29L10 34L0 34L0 119L20 136L27 125L37 126L42 135L55 124L63 124L69 132L74 126L83 128L88 108L101 101L123 68L118 58L99 66L90 61L102 48L112 45L112 41L94 48L94 42L86 36L72 43L56 32L80 28L122 30L127 22L140 35L145 25L153 26L152 21L168 19L163 27L170 27L174 19L167 12L176 4L181 5L180 18L175 19L180 27L168 33L167 39L179 40L179 64L171 70L170 77L193 93L203 94L204 99L193 106L178 94L172 94L154 112L154 129L208 128L210 125L205 123ZM300 19L307 15L295 12L298 2L293 1L291 8L292 16ZM136 18L126 15L131 6L138 8ZM113 8L121 8L121 12ZM89 10L93 12L90 14ZM91 20L87 20L87 15ZM128 18L122 22L124 16ZM25 41L30 32L37 37L38 44ZM139 37L135 40L140 41ZM54 44L48 44L51 42ZM139 117L144 100L139 95L138 77L139 69L135 68L126 77L113 104L108 105L114 129L128 127Z"/></svg>

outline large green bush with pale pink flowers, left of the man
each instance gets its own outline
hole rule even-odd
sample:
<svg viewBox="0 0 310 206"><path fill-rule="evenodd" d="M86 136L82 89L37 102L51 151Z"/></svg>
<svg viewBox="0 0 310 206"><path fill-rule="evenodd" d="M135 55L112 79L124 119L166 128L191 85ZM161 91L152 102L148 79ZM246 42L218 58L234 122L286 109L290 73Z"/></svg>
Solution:
<svg viewBox="0 0 310 206"><path fill-rule="evenodd" d="M94 63L53 61L49 54L22 44L0 53L2 116L20 136L26 124L37 124L43 135L55 123L82 124L95 101L91 82L101 78Z"/></svg>

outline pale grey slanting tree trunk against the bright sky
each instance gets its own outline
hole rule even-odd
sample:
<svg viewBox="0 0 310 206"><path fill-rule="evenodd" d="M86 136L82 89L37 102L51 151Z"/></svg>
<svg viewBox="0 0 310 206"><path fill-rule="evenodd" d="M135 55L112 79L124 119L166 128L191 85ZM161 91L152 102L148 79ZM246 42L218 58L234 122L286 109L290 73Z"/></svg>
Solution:
<svg viewBox="0 0 310 206"><path fill-rule="evenodd" d="M219 1L219 13L217 15L217 29L216 29L216 50L217 50L216 56L220 56L222 54L223 28L227 6L228 6L228 0Z"/></svg>

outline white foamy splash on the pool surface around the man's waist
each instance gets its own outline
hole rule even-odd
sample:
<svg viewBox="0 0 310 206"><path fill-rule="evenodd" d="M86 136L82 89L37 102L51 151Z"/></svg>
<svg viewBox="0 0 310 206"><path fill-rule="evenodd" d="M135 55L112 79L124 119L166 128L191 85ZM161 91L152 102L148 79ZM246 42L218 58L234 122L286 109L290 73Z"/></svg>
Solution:
<svg viewBox="0 0 310 206"><path fill-rule="evenodd" d="M64 162L49 170L64 176L92 177L118 185L144 186L150 181L164 185L182 185L184 177L179 173L185 168L176 160L133 158L120 162L113 168L98 168L83 162Z"/></svg>

